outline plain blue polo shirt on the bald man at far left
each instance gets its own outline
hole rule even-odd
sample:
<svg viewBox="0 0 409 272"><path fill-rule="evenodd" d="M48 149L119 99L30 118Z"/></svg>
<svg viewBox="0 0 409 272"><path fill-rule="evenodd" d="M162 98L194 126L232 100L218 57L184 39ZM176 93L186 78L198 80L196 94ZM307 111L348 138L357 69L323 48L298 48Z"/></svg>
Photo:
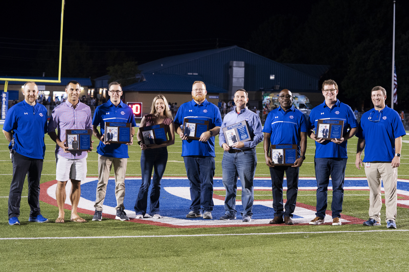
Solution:
<svg viewBox="0 0 409 272"><path fill-rule="evenodd" d="M46 153L44 134L47 133L46 107L39 103L30 106L25 100L17 103L7 112L3 130L13 133L13 150L18 154L32 159L44 159Z"/></svg>

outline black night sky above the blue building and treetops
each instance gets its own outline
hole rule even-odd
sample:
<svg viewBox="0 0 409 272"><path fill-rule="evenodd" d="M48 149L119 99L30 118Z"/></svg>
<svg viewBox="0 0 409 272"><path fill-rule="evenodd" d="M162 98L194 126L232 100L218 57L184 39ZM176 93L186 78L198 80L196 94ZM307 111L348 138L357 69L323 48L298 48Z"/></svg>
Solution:
<svg viewBox="0 0 409 272"><path fill-rule="evenodd" d="M63 41L85 43L101 54L116 49L142 64L216 46L245 47L270 16L305 20L316 2L66 0ZM2 4L0 75L29 76L39 51L58 58L60 14L58 0ZM70 47L63 43L63 50Z"/></svg>

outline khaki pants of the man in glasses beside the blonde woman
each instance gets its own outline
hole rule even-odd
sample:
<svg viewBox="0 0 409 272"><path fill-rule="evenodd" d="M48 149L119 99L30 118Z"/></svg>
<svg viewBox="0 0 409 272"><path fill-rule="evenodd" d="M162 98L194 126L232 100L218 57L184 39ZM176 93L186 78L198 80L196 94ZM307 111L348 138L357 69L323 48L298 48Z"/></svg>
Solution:
<svg viewBox="0 0 409 272"><path fill-rule="evenodd" d="M117 210L124 208L125 197L125 174L127 158L111 158L98 154L98 185L97 185L97 200L95 201L95 209L102 211L104 204L106 185L108 184L109 172L113 164L115 172L115 196L117 198Z"/></svg>

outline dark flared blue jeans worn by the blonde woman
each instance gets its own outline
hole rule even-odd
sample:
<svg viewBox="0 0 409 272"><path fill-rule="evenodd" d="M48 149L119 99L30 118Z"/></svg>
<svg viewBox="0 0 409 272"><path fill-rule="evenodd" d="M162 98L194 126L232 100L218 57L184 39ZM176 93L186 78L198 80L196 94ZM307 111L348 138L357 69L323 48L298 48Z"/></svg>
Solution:
<svg viewBox="0 0 409 272"><path fill-rule="evenodd" d="M168 161L168 149L160 147L158 149L143 150L141 154L142 185L139 189L138 199L135 203L135 213L145 215L148 204L148 190L152 177L152 189L150 192L150 215L159 214L159 197L161 194L161 180L165 172Z"/></svg>

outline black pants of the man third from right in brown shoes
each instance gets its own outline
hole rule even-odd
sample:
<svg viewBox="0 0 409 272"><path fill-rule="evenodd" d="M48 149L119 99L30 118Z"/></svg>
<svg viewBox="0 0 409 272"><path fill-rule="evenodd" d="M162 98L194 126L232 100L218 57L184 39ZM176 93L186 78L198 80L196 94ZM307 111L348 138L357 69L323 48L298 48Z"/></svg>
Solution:
<svg viewBox="0 0 409 272"><path fill-rule="evenodd" d="M283 180L284 172L287 177L287 201L285 211L283 204ZM293 216L296 209L298 193L298 174L300 167L275 166L270 167L271 186L272 186L272 208L274 216Z"/></svg>

